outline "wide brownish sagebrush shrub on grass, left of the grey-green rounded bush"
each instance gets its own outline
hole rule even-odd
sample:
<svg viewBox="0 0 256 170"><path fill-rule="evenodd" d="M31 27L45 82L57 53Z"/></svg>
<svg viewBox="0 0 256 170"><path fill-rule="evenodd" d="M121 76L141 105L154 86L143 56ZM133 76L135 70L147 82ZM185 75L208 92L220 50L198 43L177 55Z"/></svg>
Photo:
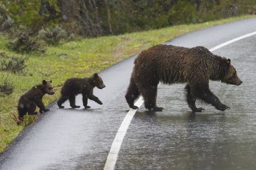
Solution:
<svg viewBox="0 0 256 170"><path fill-rule="evenodd" d="M20 53L26 52L45 52L42 42L39 42L36 38L33 38L29 33L22 32L14 42L10 42L8 47L14 51Z"/></svg>

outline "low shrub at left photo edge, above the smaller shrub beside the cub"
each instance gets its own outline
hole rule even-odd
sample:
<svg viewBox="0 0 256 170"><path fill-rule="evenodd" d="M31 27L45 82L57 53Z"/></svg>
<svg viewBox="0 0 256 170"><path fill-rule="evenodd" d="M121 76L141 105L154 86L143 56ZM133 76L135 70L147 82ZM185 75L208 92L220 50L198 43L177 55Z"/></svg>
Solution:
<svg viewBox="0 0 256 170"><path fill-rule="evenodd" d="M25 73L25 60L23 58L12 57L10 60L2 60L0 70L12 73Z"/></svg>

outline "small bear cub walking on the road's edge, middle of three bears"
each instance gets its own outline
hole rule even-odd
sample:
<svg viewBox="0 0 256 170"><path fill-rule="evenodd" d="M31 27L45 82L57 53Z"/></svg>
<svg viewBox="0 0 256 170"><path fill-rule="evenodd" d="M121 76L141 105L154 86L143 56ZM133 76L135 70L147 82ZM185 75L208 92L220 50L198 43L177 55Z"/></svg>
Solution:
<svg viewBox="0 0 256 170"><path fill-rule="evenodd" d="M98 89L103 89L106 87L102 78L98 76L98 73L93 74L93 76L90 78L70 78L66 80L62 86L62 90L60 91L61 96L57 102L59 108L64 108L62 104L68 99L72 108L79 108L80 106L75 104L75 99L77 94L81 93L85 108L90 108L90 106L87 106L88 98L102 105L102 101L93 95L94 87L98 87Z"/></svg>

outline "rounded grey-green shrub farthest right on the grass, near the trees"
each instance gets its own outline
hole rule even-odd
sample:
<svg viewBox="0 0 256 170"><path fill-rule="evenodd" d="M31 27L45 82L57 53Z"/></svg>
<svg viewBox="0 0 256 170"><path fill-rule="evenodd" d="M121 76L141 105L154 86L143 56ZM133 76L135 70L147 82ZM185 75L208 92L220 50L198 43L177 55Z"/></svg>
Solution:
<svg viewBox="0 0 256 170"><path fill-rule="evenodd" d="M68 34L65 30L56 26L52 29L42 29L38 32L38 38L44 40L48 44L58 44L60 40L68 39Z"/></svg>

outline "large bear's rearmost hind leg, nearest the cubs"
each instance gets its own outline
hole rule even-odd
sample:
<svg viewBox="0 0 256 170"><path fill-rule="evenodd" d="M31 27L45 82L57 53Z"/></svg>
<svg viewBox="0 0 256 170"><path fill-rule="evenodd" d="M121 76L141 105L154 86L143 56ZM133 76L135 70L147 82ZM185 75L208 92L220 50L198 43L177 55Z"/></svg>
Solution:
<svg viewBox="0 0 256 170"><path fill-rule="evenodd" d="M126 102L128 103L129 107L136 110L138 109L137 106L134 106L134 100L136 100L139 96L139 89L136 86L134 80L131 78L130 85L128 87L128 90L125 94Z"/></svg>

